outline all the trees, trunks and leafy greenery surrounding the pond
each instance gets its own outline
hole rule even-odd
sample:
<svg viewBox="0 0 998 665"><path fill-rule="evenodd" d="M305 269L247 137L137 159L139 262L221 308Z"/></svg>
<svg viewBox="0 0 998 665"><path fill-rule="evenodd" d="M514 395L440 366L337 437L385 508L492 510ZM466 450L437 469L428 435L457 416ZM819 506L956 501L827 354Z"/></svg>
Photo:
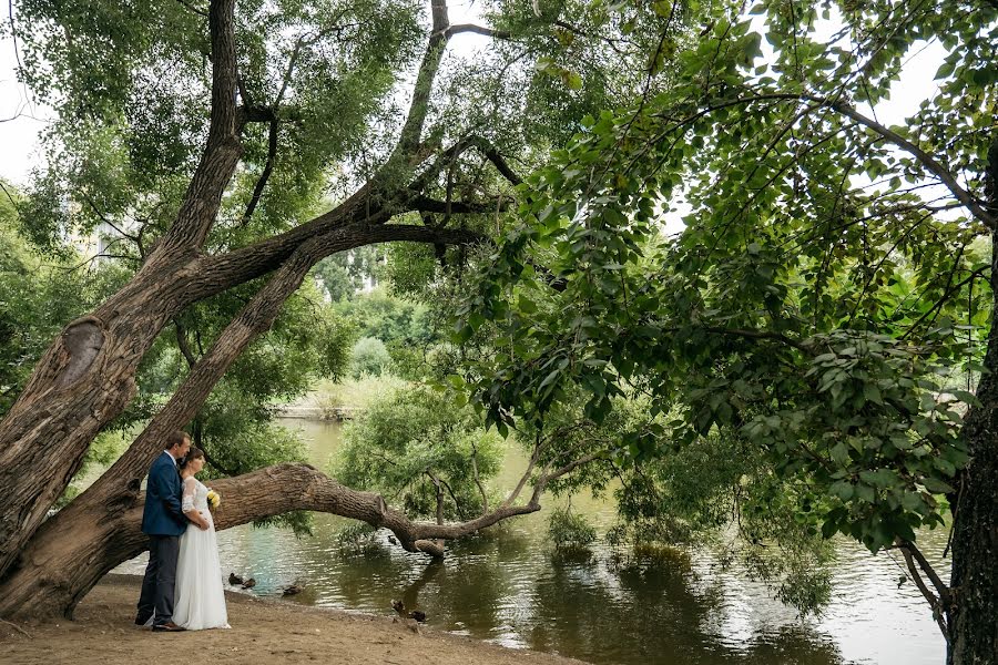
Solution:
<svg viewBox="0 0 998 665"><path fill-rule="evenodd" d="M58 120L0 208L0 616L71 615L142 550L140 481L189 427L220 528L327 511L441 556L603 492L615 542L733 529L804 611L827 539L896 551L950 662L992 658L992 3L17 8ZM924 43L939 93L882 122ZM387 376L338 480L272 422ZM505 497L496 437L529 459Z"/></svg>

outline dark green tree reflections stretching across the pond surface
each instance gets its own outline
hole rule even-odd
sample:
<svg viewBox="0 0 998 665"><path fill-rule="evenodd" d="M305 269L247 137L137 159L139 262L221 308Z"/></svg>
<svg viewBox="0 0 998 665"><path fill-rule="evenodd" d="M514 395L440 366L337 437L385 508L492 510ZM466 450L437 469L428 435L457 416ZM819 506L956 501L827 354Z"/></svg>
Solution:
<svg viewBox="0 0 998 665"><path fill-rule="evenodd" d="M731 590L713 575L695 579L683 553L615 563L604 551L557 557L536 538L506 529L431 561L389 546L380 532L375 548L345 555L325 531L319 525L315 539L282 543L289 546L279 556L315 590L298 601L387 616L390 601L401 598L440 630L597 663L842 663L837 648L804 625L732 640L722 630Z"/></svg>

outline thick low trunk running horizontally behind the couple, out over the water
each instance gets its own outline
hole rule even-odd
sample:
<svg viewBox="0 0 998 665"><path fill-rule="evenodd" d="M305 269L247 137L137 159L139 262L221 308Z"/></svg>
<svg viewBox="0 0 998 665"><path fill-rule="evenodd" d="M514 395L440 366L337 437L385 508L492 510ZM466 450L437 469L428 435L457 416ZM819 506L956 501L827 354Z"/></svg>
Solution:
<svg viewBox="0 0 998 665"><path fill-rule="evenodd" d="M210 484L223 501L215 513L218 530L293 510L312 510L390 529L407 550L434 556L444 553L437 539L460 538L540 510L537 491L523 505L503 505L460 524L413 522L389 509L380 495L346 488L308 464L278 464ZM24 551L22 565L0 583L0 616L62 614L71 618L80 600L108 571L146 548L147 538L141 531L142 494L111 516L101 502L82 503L73 511L70 529L57 520L39 529Z"/></svg>

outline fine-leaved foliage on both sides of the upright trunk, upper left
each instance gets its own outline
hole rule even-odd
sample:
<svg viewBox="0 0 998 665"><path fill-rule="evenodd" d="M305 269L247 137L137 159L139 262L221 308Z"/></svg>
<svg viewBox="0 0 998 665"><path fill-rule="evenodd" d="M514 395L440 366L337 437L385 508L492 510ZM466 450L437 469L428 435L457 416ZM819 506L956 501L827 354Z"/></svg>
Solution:
<svg viewBox="0 0 998 665"><path fill-rule="evenodd" d="M27 0L17 18L20 75L59 114L45 143L52 166L37 178L27 223L40 242L89 233L103 218L141 224L154 239L175 216L203 140L211 85L203 16L176 2L79 11ZM268 129L247 126L245 168L222 213L242 223L221 224L212 237L227 246L316 212L327 166L377 143L374 125L393 109L383 102L421 37L405 0L256 2L241 6L236 23L244 101L281 109L283 158L251 217Z"/></svg>

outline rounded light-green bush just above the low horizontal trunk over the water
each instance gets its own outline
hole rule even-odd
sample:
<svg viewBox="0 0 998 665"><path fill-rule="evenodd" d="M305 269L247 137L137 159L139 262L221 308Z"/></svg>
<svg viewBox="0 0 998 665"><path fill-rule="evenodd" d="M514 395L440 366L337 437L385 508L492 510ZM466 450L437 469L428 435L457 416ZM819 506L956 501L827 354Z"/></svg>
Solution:
<svg viewBox="0 0 998 665"><path fill-rule="evenodd" d="M384 493L416 516L436 515L438 488L445 519L477 516L483 504L476 479L485 485L502 459L498 437L481 424L445 393L397 389L344 428L333 474L349 487Z"/></svg>

